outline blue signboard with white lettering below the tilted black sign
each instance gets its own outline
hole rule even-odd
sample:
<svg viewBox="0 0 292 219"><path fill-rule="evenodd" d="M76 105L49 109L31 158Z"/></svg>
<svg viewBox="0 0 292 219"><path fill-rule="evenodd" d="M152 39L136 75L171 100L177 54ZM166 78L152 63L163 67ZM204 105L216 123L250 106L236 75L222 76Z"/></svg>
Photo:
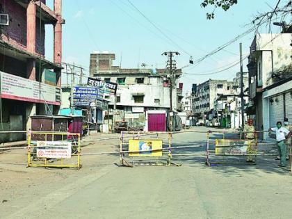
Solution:
<svg viewBox="0 0 292 219"><path fill-rule="evenodd" d="M73 104L74 106L92 106L97 101L97 88L73 88Z"/></svg>

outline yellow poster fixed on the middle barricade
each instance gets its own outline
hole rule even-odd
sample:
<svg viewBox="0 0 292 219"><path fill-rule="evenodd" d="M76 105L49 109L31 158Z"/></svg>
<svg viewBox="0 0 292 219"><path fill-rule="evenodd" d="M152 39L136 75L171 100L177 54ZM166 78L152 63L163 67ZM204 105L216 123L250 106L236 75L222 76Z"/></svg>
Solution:
<svg viewBox="0 0 292 219"><path fill-rule="evenodd" d="M129 156L162 156L162 140L130 139L129 151Z"/></svg>

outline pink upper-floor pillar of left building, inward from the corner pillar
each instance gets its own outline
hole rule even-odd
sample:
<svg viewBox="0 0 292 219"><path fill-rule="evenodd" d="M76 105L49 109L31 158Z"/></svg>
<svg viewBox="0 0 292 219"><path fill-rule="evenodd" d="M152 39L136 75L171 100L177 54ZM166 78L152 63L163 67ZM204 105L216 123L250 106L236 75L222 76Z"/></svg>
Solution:
<svg viewBox="0 0 292 219"><path fill-rule="evenodd" d="M29 1L26 9L26 49L35 54L36 44L36 6L34 1Z"/></svg>

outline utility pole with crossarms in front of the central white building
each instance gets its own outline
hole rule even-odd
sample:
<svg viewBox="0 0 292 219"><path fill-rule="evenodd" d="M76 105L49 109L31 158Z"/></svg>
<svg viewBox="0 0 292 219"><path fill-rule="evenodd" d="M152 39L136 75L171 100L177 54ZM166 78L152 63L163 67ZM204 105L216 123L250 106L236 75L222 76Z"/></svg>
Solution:
<svg viewBox="0 0 292 219"><path fill-rule="evenodd" d="M168 56L168 61L166 68L169 70L169 79L170 79L170 113L173 111L172 107L172 90L175 87L175 70L177 68L176 61L173 60L173 56L179 56L178 51L165 51L162 54L163 56ZM170 115L170 131L172 131L172 116Z"/></svg>

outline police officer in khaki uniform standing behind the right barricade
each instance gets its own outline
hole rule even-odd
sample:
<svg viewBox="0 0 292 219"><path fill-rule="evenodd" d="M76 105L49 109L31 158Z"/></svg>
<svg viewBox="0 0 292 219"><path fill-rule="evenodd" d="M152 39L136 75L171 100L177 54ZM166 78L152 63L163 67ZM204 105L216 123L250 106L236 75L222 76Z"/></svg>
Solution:
<svg viewBox="0 0 292 219"><path fill-rule="evenodd" d="M253 125L253 120L249 119L248 120L248 124L245 124L243 131L245 132L245 140L247 140L245 142L245 144L250 144L250 143L254 143L254 138L255 138L255 129L254 129L254 125ZM254 145L248 145L248 149L247 149L247 154L254 154L256 151L253 149ZM254 163L254 161L252 160L252 155L248 155L248 159L246 159L246 162L248 163Z"/></svg>

